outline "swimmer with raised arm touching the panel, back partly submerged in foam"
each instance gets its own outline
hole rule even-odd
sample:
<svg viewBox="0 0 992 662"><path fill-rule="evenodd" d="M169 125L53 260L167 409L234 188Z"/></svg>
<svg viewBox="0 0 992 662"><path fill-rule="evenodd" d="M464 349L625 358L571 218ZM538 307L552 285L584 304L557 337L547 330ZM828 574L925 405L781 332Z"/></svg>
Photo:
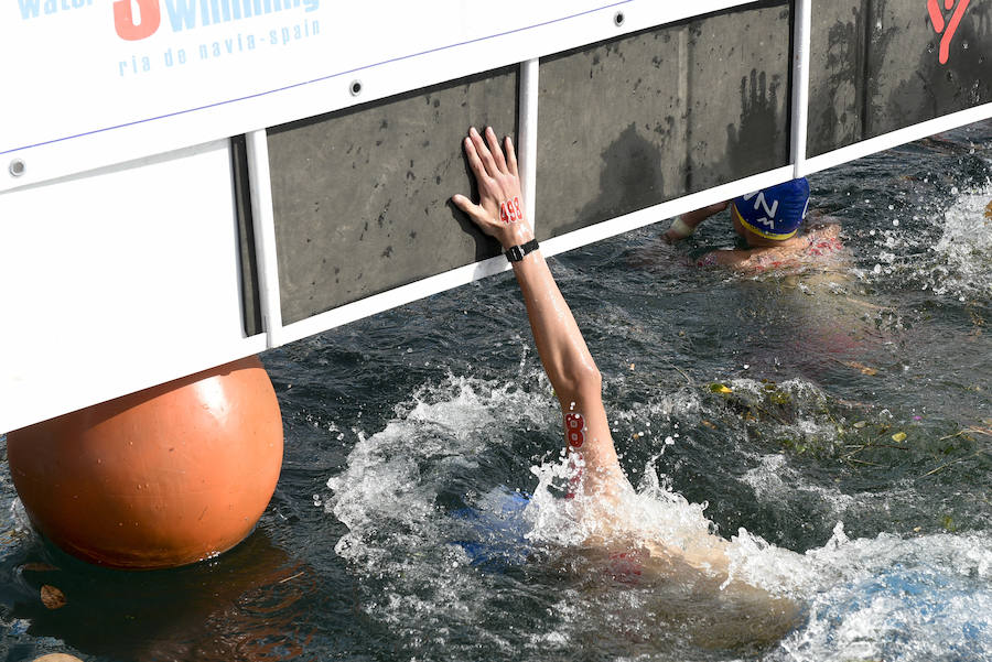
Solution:
<svg viewBox="0 0 992 662"><path fill-rule="evenodd" d="M610 567L689 582L700 593L733 595L750 605L744 611L770 618L769 632L780 633L792 622L795 605L730 579L729 541L704 529L660 540L638 519L638 495L619 465L600 370L524 214L513 141L505 138L500 146L492 128L484 135L473 128L464 149L479 199L455 195L452 202L499 241L513 264L538 355L561 406L564 448L573 468L568 496L581 496L580 517L590 524L586 549L602 552Z"/></svg>

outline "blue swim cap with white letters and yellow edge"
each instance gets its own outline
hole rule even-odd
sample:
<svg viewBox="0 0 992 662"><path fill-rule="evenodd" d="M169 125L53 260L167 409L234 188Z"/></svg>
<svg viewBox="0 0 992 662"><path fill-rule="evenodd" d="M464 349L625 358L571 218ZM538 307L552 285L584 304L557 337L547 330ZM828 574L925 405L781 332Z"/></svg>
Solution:
<svg viewBox="0 0 992 662"><path fill-rule="evenodd" d="M731 215L742 226L766 239L783 241L792 237L809 209L809 182L791 182L742 195L731 203Z"/></svg>

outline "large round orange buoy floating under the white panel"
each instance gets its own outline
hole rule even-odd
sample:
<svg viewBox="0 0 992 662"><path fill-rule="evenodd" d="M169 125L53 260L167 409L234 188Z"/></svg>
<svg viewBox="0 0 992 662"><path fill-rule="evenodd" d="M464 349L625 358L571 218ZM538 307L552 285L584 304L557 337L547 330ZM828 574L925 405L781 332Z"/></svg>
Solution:
<svg viewBox="0 0 992 662"><path fill-rule="evenodd" d="M174 567L238 544L282 466L282 417L248 357L17 430L7 455L34 527L120 568Z"/></svg>

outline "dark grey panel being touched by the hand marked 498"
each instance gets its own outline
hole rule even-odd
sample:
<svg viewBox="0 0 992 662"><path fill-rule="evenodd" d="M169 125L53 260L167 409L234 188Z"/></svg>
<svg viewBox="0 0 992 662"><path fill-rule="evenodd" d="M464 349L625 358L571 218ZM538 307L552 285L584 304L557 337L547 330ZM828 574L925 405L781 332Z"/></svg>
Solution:
<svg viewBox="0 0 992 662"><path fill-rule="evenodd" d="M450 198L468 126L516 113L514 68L270 130L283 323L497 254Z"/></svg>

